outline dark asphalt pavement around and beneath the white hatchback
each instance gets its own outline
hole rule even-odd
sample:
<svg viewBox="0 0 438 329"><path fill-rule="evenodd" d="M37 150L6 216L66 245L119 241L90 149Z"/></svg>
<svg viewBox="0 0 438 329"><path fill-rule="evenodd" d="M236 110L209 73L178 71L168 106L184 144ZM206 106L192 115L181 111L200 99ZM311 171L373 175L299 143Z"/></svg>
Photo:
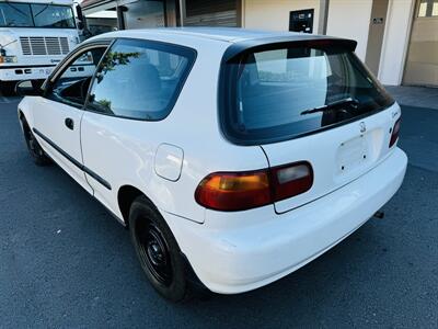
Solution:
<svg viewBox="0 0 438 329"><path fill-rule="evenodd" d="M410 164L383 219L263 288L171 304L128 231L33 164L16 104L0 97L0 328L438 328L438 110L403 109Z"/></svg>

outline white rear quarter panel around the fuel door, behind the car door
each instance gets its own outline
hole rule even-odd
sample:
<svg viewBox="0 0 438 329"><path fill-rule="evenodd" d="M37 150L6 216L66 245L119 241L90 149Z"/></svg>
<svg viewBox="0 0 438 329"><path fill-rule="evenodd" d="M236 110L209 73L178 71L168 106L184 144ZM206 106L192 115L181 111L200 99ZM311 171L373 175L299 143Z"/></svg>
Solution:
<svg viewBox="0 0 438 329"><path fill-rule="evenodd" d="M185 45L181 41L177 44ZM194 47L189 39L186 45ZM215 171L267 167L260 147L234 146L219 131L218 75L227 47L223 42L196 38L196 61L175 106L162 121L84 114L81 133L84 164L108 181L112 190L91 177L88 180L95 196L120 218L118 190L131 185L142 191L159 209L204 223L205 208L194 198L203 178ZM162 144L176 146L184 152L177 181L155 173L154 157Z"/></svg>

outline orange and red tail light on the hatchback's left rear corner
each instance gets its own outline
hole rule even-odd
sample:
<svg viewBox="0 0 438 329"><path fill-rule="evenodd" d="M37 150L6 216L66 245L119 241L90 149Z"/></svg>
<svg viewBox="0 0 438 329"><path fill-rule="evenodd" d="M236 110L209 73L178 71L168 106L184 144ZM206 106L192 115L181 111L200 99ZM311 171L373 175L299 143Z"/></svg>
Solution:
<svg viewBox="0 0 438 329"><path fill-rule="evenodd" d="M211 209L245 211L304 193L312 184L309 162L257 171L215 172L199 183L195 200Z"/></svg>

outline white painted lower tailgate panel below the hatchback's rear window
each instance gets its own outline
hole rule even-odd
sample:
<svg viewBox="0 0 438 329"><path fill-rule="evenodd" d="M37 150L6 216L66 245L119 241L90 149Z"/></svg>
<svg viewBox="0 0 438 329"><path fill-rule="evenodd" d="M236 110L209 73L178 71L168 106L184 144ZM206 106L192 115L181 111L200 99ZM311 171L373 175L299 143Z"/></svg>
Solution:
<svg viewBox="0 0 438 329"><path fill-rule="evenodd" d="M322 197L376 167L390 151L390 132L394 125L393 115L397 112L394 104L388 111L333 129L263 145L270 167L306 160L313 169L312 188L303 194L276 202L276 212L284 213Z"/></svg>

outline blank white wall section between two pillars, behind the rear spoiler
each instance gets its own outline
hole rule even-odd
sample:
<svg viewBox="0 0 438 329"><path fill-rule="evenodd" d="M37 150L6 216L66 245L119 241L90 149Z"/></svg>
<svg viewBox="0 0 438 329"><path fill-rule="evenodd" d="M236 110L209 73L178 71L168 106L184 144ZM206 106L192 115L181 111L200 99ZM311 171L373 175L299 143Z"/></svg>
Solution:
<svg viewBox="0 0 438 329"><path fill-rule="evenodd" d="M404 1L404 0L402 0ZM365 61L372 0L330 0L327 35L357 41L356 54Z"/></svg>

